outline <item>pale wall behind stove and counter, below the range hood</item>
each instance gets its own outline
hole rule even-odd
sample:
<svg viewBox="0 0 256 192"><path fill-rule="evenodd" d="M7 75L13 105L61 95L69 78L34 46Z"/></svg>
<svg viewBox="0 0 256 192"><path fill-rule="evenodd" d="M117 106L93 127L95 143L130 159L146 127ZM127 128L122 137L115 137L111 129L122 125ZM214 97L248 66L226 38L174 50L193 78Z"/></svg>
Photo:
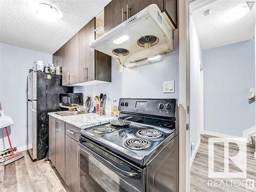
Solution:
<svg viewBox="0 0 256 192"><path fill-rule="evenodd" d="M177 35L176 35L177 36ZM84 93L84 97L105 93L108 97L119 100L131 98L178 98L179 95L179 47L175 39L175 50L166 54L163 61L136 69L124 68L119 73L119 64L112 58L112 82L86 87L76 87L75 92ZM175 80L175 93L163 93L163 81Z"/></svg>

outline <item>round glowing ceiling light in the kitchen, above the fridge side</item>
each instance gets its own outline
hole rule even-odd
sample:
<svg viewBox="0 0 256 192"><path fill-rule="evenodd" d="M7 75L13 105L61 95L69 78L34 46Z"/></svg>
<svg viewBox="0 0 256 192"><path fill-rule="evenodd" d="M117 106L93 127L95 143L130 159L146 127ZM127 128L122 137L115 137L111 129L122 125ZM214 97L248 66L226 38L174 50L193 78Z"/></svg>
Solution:
<svg viewBox="0 0 256 192"><path fill-rule="evenodd" d="M39 17L47 21L59 20L63 16L58 9L46 3L38 4L36 8L36 13Z"/></svg>

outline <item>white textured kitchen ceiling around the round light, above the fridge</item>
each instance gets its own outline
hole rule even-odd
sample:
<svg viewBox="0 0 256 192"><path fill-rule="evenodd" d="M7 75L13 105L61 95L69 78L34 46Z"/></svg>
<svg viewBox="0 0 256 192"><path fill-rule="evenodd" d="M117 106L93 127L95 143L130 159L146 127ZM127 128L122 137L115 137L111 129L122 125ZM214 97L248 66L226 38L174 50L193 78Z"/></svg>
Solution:
<svg viewBox="0 0 256 192"><path fill-rule="evenodd" d="M111 0L0 0L0 42L44 53L54 53ZM33 9L48 3L63 13L46 22Z"/></svg>

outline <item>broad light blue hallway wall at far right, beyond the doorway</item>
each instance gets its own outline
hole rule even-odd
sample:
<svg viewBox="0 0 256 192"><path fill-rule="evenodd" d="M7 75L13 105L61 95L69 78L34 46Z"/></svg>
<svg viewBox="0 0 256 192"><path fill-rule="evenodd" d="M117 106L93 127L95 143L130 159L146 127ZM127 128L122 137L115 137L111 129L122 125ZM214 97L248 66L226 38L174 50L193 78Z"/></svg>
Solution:
<svg viewBox="0 0 256 192"><path fill-rule="evenodd" d="M232 136L255 125L254 39L203 51L204 129Z"/></svg>

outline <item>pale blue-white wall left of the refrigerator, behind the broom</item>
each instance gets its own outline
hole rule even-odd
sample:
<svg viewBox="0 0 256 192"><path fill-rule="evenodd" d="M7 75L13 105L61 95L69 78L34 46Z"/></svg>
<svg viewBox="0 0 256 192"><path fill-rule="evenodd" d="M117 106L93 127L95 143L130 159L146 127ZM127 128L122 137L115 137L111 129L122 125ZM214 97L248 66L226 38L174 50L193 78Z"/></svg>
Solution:
<svg viewBox="0 0 256 192"><path fill-rule="evenodd" d="M52 55L0 44L0 102L11 126L13 146L27 145L27 74L34 60L52 62ZM9 147L6 134L0 130L0 150Z"/></svg>

